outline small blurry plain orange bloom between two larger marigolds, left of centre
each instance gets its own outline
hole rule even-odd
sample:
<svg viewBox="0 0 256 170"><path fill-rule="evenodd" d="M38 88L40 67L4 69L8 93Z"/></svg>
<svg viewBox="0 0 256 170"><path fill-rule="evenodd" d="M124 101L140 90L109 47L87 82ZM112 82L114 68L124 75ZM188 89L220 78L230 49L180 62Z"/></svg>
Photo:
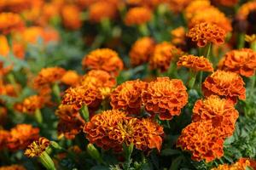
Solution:
<svg viewBox="0 0 256 170"><path fill-rule="evenodd" d="M77 71L67 71L63 77L61 77L61 82L74 87L79 83L79 78L80 76Z"/></svg>

